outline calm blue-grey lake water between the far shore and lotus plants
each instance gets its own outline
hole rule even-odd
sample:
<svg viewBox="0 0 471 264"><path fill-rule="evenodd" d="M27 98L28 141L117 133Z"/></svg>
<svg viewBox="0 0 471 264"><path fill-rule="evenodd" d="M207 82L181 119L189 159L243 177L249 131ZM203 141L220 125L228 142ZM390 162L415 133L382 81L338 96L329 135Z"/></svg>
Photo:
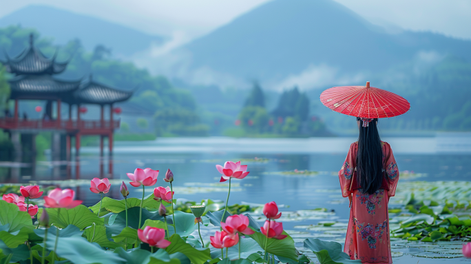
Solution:
<svg viewBox="0 0 471 264"><path fill-rule="evenodd" d="M471 135L467 133L437 134L435 137L384 137L389 142L400 171L413 170L425 177L424 181L468 181L471 179ZM108 164L104 161L105 177L123 179L128 182L126 173L133 173L135 168L160 170L156 186L167 186L163 181L165 171L170 168L175 177L176 197L200 201L201 199L220 199L227 197L227 186L217 184L220 175L216 164L227 160L246 160L249 176L234 180L229 204L251 202L266 203L276 201L289 206L282 210L302 210L327 208L335 210L337 221L348 219L348 203L342 199L339 190L337 171L342 166L348 148L356 139L353 137L327 137L307 139L233 139L229 137L197 138L159 138L153 142L117 142L112 162L114 174L106 175ZM255 161L262 159L263 162ZM47 157L48 158L48 157ZM100 158L98 147L81 149L80 179L99 177ZM63 163L48 160L38 161L34 168L23 164L21 177L13 178L12 166L18 164L0 164L0 181L28 182L30 180L65 180L74 179L64 173ZM58 168L61 167L61 170ZM55 170L54 170L55 169ZM282 171L310 170L317 175L280 175ZM59 172L59 173L58 173ZM278 173L278 174L277 174ZM401 180L399 180L401 181ZM96 203L99 195L88 188L90 181L74 186L79 198L86 205ZM129 186L129 185L128 185ZM154 186L154 187L156 187ZM133 197L141 197L140 188L129 186ZM150 194L153 188L147 188ZM121 199L116 183L109 193ZM316 224L318 221L298 221L284 223L285 229L300 224ZM411 259L410 256L395 258L399 263L460 263L464 259ZM412 262L410 262L412 261ZM396 261L397 262L397 261Z"/></svg>

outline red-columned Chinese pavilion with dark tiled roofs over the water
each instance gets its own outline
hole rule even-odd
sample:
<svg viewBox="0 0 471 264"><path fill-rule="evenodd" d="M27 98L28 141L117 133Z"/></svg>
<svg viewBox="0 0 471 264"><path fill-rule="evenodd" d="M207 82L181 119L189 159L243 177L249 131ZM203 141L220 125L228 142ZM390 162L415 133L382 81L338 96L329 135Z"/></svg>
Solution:
<svg viewBox="0 0 471 264"><path fill-rule="evenodd" d="M57 52L56 52L57 54ZM10 100L14 100L12 115L0 118L0 129L5 129L11 135L16 156L21 157L22 142L25 138L34 137L41 131L52 132L53 160L71 160L71 140L75 138L75 157L78 164L81 136L100 135L100 153L103 156L103 140L108 137L109 156L113 151L113 133L120 126L120 120L114 120L114 113L121 109L114 109L116 102L128 100L133 91L122 91L108 87L90 78L81 80L61 80L54 75L65 71L69 61L59 63L56 54L47 58L40 50L34 47L34 38L30 35L28 47L19 55L10 58L6 54L5 65L7 72L14 74L9 80ZM19 117L19 100L46 100L43 118L28 120ZM61 107L68 105L68 116L61 115ZM52 113L53 104L56 113ZM82 120L81 113L86 111L85 104L97 104L101 108L99 120ZM76 108L76 118L72 117L72 109ZM109 111L109 120L105 120L104 111ZM65 146L64 146L65 145ZM64 155L65 154L65 155ZM61 158L61 156L63 158ZM64 157L65 156L65 157ZM102 168L103 169L103 168ZM103 173L103 172L101 172ZM112 162L109 159L109 173L112 174ZM76 176L79 177L80 167L76 165Z"/></svg>

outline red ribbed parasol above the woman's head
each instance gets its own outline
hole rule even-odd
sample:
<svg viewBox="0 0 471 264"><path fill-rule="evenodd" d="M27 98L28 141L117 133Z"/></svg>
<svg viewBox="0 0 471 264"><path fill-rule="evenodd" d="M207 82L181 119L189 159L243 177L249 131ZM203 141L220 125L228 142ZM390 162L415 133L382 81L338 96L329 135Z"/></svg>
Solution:
<svg viewBox="0 0 471 264"><path fill-rule="evenodd" d="M391 118L406 113L410 103L390 91L366 86L340 86L326 89L322 104L333 111L359 118Z"/></svg>

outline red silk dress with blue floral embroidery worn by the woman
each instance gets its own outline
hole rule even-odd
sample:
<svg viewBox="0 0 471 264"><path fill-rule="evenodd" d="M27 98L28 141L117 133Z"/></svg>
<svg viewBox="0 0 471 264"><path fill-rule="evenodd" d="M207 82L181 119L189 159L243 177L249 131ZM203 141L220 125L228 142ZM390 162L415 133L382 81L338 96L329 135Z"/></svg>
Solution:
<svg viewBox="0 0 471 264"><path fill-rule="evenodd" d="M383 164L386 170L381 188L373 195L364 194L357 181L357 142L350 145L342 170L339 171L342 196L352 195L352 207L345 239L344 252L350 259L359 259L362 263L391 264L389 238L389 198L395 195L399 170L392 155L391 146L381 142Z"/></svg>

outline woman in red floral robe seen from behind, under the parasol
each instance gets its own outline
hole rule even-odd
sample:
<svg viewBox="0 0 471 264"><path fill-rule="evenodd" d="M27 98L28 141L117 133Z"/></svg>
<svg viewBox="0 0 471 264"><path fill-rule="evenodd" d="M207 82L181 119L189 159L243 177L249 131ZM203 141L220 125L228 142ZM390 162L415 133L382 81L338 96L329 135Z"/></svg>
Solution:
<svg viewBox="0 0 471 264"><path fill-rule="evenodd" d="M399 170L390 145L379 138L377 122L357 118L358 141L350 145L339 171L342 196L351 207L344 252L362 263L390 264L388 202Z"/></svg>

